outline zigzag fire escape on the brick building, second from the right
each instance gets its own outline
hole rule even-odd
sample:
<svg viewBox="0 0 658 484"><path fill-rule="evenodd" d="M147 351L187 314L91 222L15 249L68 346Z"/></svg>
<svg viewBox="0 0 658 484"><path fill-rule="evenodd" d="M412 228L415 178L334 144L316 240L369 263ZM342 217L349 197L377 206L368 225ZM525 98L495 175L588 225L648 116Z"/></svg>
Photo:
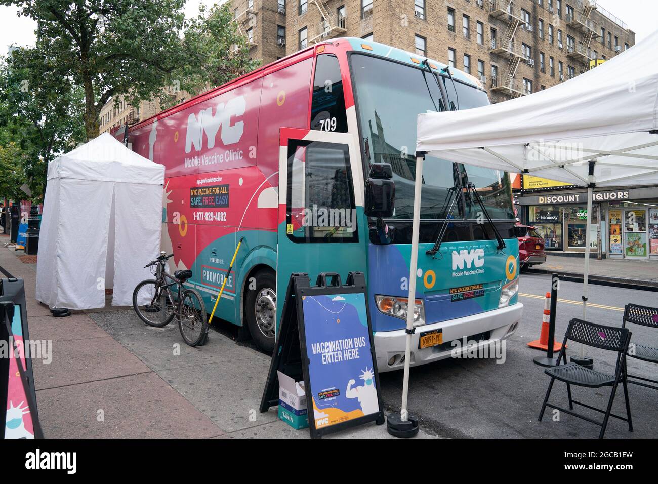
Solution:
<svg viewBox="0 0 658 484"><path fill-rule="evenodd" d="M505 33L492 38L491 53L508 61L503 74L492 78L492 91L500 92L510 97L523 95L523 86L515 80L519 63L527 61L526 53L520 43L515 41L517 29L525 25L520 9L514 6L512 0L490 0L489 16L507 24Z"/></svg>

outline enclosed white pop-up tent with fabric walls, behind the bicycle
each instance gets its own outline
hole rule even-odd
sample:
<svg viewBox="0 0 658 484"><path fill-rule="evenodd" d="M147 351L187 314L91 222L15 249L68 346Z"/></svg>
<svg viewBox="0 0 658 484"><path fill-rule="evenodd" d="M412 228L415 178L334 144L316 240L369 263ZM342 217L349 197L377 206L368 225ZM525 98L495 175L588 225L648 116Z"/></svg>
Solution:
<svg viewBox="0 0 658 484"><path fill-rule="evenodd" d="M132 304L144 265L160 250L164 166L109 133L48 164L37 263L37 300L91 309Z"/></svg>

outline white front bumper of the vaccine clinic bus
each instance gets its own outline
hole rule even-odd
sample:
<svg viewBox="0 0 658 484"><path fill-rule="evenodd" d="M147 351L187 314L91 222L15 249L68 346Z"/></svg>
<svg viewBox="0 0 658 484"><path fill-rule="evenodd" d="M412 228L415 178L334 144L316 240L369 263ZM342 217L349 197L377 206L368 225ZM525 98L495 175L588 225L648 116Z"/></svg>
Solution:
<svg viewBox="0 0 658 484"><path fill-rule="evenodd" d="M477 341L477 347L482 348L492 342L504 340L513 335L519 327L523 304L517 302L513 306L493 309L484 313L471 316L430 323L416 327L416 332L411 335L411 366L424 365L424 363L436 362L451 358L453 346L450 342L460 340L468 336L488 333L486 340ZM418 340L422 333L441 329L443 332L443 344L430 348L418 348ZM377 369L381 371L392 371L404 367L405 346L407 333L404 329L396 331L380 331L374 334L374 347L377 354ZM464 348L465 350L466 348ZM472 349L472 348L471 348Z"/></svg>

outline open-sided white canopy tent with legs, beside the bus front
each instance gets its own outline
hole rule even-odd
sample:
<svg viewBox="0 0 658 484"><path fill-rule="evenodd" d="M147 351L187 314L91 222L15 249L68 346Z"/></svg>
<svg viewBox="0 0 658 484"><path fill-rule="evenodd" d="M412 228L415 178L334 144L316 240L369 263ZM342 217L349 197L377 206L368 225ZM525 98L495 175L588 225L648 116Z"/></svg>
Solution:
<svg viewBox="0 0 658 484"><path fill-rule="evenodd" d="M418 115L409 300L415 298L422 165L426 155L588 188L583 316L594 186L658 184L658 31L567 82L504 103ZM413 328L411 315L407 328ZM411 335L403 383L403 417ZM582 352L582 349L581 349Z"/></svg>

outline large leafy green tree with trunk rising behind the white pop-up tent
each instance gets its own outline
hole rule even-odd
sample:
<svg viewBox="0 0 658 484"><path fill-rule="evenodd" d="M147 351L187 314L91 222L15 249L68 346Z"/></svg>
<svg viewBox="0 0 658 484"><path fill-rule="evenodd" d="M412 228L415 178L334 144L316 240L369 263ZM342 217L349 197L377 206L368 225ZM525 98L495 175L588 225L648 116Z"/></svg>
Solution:
<svg viewBox="0 0 658 484"><path fill-rule="evenodd" d="M184 0L0 1L18 5L20 14L38 22L36 46L24 53L30 68L70 78L82 87L87 138L98 136L101 108L111 97L125 97L136 105L159 97L174 80L188 86L191 83L179 76L202 70L204 55L213 58L216 75L223 65L229 67L226 72L234 72L234 56L215 57L211 50L245 45L243 39L217 30L205 35L201 28L207 19L186 20ZM228 25L228 7L223 9L218 20L207 20L209 25ZM245 49L239 49L238 56L244 55Z"/></svg>

